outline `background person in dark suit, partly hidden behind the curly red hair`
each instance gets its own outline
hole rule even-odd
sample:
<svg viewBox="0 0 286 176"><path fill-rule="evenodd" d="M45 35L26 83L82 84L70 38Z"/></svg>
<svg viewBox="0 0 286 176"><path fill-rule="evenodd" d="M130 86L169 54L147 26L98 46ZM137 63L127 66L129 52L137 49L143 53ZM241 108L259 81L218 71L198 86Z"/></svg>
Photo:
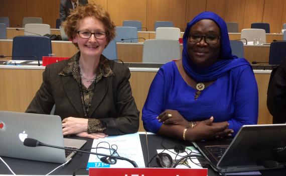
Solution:
<svg viewBox="0 0 286 176"><path fill-rule="evenodd" d="M87 5L87 0L61 0L60 2L60 21L61 23L70 15L70 10L78 5Z"/></svg>

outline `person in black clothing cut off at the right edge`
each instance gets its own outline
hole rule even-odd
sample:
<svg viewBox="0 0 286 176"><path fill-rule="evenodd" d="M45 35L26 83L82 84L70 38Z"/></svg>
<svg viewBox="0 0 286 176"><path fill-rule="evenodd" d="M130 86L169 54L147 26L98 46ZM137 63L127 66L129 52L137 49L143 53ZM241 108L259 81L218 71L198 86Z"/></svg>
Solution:
<svg viewBox="0 0 286 176"><path fill-rule="evenodd" d="M272 123L286 123L286 59L271 72L267 90L267 108Z"/></svg>

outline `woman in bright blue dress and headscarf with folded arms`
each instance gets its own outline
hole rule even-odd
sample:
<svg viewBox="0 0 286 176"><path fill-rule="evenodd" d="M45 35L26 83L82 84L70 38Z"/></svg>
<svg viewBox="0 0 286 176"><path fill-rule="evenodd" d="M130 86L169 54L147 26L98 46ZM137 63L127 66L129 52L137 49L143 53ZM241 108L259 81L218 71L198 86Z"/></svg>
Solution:
<svg viewBox="0 0 286 176"><path fill-rule="evenodd" d="M234 136L256 124L257 83L250 64L232 55L227 27L212 12L188 23L183 59L163 65L142 109L147 131L184 140Z"/></svg>

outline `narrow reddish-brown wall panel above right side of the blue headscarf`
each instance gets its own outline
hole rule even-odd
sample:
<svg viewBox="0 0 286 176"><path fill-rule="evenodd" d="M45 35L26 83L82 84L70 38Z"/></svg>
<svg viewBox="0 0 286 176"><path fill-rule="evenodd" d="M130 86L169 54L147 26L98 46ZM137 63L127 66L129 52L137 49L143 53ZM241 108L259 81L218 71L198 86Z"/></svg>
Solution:
<svg viewBox="0 0 286 176"><path fill-rule="evenodd" d="M206 11L211 11L218 14L224 19L226 0L207 0Z"/></svg>

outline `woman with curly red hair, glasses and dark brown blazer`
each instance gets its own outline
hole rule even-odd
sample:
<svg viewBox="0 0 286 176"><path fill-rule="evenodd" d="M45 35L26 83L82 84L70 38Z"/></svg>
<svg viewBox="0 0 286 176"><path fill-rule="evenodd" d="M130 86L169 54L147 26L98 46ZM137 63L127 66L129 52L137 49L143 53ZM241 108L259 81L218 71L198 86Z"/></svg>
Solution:
<svg viewBox="0 0 286 176"><path fill-rule="evenodd" d="M108 13L93 3L81 6L63 27L79 52L46 66L26 112L50 114L55 105L64 135L97 139L137 132L139 111L128 81L130 71L102 55L115 36Z"/></svg>

